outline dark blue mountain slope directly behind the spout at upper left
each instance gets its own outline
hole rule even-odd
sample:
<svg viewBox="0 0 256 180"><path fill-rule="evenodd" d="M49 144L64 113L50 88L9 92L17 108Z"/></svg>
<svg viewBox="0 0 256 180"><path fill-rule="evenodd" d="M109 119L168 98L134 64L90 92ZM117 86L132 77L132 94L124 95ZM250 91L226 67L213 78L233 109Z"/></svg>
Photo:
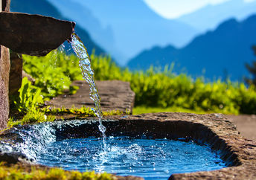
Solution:
<svg viewBox="0 0 256 180"><path fill-rule="evenodd" d="M56 7L45 0L11 0L10 10L13 12L41 14L43 16L51 16L57 19L68 20L57 10ZM105 51L92 41L89 33L87 33L86 30L83 30L80 25L77 24L75 30L78 36L80 36L83 42L85 42L89 54L91 54L94 49L95 54L105 54Z"/></svg>

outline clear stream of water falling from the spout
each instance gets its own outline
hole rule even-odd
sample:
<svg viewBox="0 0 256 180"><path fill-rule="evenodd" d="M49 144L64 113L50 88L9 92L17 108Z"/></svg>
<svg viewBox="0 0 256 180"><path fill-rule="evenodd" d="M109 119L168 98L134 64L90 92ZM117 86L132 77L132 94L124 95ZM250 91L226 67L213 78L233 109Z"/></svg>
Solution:
<svg viewBox="0 0 256 180"><path fill-rule="evenodd" d="M77 36L76 33L72 33L71 38L72 38L72 41L71 41L72 48L74 52L77 54L77 57L80 59L79 66L83 74L83 79L86 80L90 86L90 90L91 90L90 97L95 102L95 109L92 109L92 110L97 115L97 118L99 118L99 122L100 122L99 129L100 129L100 132L102 132L103 144L105 146L104 141L106 138L106 135L105 135L106 127L103 126L102 124L103 115L100 109L100 95L97 91L97 86L95 84L95 74L94 74L94 71L92 70L91 60L87 52L86 46L83 45L83 42L81 41L80 37Z"/></svg>

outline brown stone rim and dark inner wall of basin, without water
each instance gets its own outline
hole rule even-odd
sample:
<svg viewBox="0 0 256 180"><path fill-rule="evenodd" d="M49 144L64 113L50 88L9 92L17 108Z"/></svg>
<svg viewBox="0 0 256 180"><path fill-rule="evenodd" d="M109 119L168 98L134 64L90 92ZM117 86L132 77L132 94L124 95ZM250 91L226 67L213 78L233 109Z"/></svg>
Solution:
<svg viewBox="0 0 256 180"><path fill-rule="evenodd" d="M92 120L92 118L87 120ZM81 123L82 121L70 122L67 120L64 123L63 121L55 123L55 133L58 138L100 136L97 126ZM106 135L118 135L122 132L122 135L133 137L147 135L152 138L173 140L182 138L196 141L199 144L209 144L212 150L216 150L220 154L228 166L221 170L173 174L170 179L256 179L256 144L239 135L236 126L229 122L224 115L156 113L114 116L107 117L103 124L107 128ZM16 128L22 131L30 126ZM0 138L1 144L22 142L22 138L14 133L13 129L3 132ZM15 155L8 153L9 157L13 157L12 162L22 161L21 158L17 158L19 153L16 152ZM4 155L4 152L1 153L2 159L6 156L7 154ZM129 177L129 179L134 178Z"/></svg>

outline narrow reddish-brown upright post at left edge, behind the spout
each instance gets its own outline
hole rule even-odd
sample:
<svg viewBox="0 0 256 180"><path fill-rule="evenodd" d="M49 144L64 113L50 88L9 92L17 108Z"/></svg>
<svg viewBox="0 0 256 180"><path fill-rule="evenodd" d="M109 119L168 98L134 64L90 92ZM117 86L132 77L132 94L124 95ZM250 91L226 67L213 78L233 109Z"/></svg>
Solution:
<svg viewBox="0 0 256 180"><path fill-rule="evenodd" d="M2 0L2 10L10 10L10 0ZM6 128L9 116L9 49L0 45L0 130Z"/></svg>

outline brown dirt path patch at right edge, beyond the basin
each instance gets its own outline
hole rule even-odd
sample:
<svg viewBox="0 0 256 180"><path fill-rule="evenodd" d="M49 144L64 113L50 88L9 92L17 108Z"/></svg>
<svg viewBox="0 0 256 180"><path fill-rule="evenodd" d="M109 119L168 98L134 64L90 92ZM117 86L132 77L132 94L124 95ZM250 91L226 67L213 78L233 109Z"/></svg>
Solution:
<svg viewBox="0 0 256 180"><path fill-rule="evenodd" d="M241 135L256 141L256 115L227 115Z"/></svg>

